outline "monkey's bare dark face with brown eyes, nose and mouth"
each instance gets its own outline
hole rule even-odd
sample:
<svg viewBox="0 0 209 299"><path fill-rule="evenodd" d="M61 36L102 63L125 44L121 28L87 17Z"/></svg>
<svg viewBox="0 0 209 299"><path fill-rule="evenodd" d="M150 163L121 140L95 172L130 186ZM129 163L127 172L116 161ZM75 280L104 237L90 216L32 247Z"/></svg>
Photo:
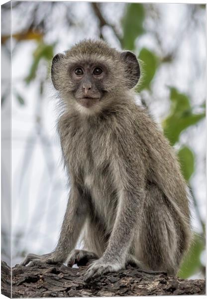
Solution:
<svg viewBox="0 0 209 299"><path fill-rule="evenodd" d="M102 64L76 64L69 68L70 80L75 88L74 97L84 107L91 107L101 100L105 93L104 81L107 69Z"/></svg>

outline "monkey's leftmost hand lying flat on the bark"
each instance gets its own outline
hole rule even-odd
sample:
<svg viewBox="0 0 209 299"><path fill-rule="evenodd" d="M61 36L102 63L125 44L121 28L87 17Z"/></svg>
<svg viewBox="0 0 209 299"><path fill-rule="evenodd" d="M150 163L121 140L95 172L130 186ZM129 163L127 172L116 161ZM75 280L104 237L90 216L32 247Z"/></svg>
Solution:
<svg viewBox="0 0 209 299"><path fill-rule="evenodd" d="M60 254L57 254L56 252L47 253L43 255L36 255L29 253L24 261L20 263L21 266L28 265L29 267L38 265L40 263L47 263L47 264L62 264L64 262L64 259Z"/></svg>

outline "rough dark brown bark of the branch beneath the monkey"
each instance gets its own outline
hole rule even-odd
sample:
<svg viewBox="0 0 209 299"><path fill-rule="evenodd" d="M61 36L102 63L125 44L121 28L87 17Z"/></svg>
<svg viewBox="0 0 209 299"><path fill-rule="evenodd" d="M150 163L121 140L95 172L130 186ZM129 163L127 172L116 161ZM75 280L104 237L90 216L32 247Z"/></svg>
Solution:
<svg viewBox="0 0 209 299"><path fill-rule="evenodd" d="M140 295L203 295L205 280L183 280L166 273L128 267L85 284L86 267L38 265L12 268L12 297L106 297ZM1 262L1 293L10 297L10 268Z"/></svg>

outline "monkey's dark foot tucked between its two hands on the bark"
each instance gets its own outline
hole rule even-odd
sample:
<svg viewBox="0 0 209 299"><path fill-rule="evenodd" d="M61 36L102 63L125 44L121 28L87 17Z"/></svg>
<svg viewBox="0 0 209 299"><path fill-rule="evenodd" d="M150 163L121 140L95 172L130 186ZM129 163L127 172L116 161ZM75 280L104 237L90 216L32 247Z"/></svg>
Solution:
<svg viewBox="0 0 209 299"><path fill-rule="evenodd" d="M73 250L70 253L70 258L68 261L68 266L73 267L77 264L78 266L90 265L93 261L98 260L99 256L94 252L89 252L86 250Z"/></svg>

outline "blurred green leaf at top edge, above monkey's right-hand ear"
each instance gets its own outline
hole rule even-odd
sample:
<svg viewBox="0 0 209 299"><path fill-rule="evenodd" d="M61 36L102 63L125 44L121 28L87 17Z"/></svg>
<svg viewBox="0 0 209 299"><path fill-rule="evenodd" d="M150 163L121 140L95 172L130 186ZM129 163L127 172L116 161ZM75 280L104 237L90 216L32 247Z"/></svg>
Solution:
<svg viewBox="0 0 209 299"><path fill-rule="evenodd" d="M122 18L123 39L122 47L134 49L135 39L143 34L144 6L139 3L126 4L126 11Z"/></svg>

